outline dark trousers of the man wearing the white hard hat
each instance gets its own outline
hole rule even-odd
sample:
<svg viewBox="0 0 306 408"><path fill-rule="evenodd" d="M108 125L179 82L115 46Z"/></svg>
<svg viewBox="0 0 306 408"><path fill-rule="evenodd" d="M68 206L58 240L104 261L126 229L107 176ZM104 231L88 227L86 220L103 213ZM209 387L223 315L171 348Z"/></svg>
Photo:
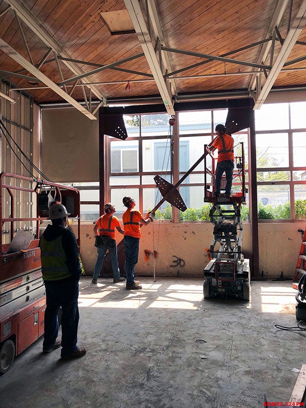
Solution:
<svg viewBox="0 0 306 408"><path fill-rule="evenodd" d="M44 315L44 340L42 347L55 344L59 333L58 311L62 307L62 354L76 350L79 324L79 282L44 281L46 289L46 310Z"/></svg>

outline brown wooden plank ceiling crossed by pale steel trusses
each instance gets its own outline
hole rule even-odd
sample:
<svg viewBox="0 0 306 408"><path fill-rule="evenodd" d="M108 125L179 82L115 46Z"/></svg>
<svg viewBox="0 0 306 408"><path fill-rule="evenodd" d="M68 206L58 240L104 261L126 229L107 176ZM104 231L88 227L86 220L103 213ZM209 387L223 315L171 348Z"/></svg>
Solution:
<svg viewBox="0 0 306 408"><path fill-rule="evenodd" d="M91 100L107 105L123 100L165 101L169 97L171 104L171 99L189 100L195 95L207 98L211 93L231 97L238 92L252 96L260 105L264 87L306 84L305 3L3 0L0 75L31 93L38 104L67 100L58 93L58 87L76 104L84 101L86 95L86 109L91 112ZM124 11L118 13L122 24L134 25L136 32L131 33L130 29L129 34L111 34L106 24L108 15L101 18L100 13L119 11ZM118 31L120 21L114 16L110 15L110 19L116 22ZM126 16L131 20L126 21ZM297 61L288 64L293 60ZM108 64L113 65L101 69ZM46 87L45 77L39 78L32 67L38 68L52 84ZM276 72L272 78L273 69ZM33 80L20 78L16 73ZM165 101L168 113L170 104L167 107Z"/></svg>

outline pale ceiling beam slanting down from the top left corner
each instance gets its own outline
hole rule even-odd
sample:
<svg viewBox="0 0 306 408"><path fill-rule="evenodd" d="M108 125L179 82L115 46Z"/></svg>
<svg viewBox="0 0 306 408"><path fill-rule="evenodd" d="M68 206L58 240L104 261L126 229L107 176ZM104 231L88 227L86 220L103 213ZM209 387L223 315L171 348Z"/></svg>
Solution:
<svg viewBox="0 0 306 408"><path fill-rule="evenodd" d="M65 58L70 58L71 56L50 36L50 34L40 25L35 17L23 6L23 4L19 0L5 0L7 4L11 6L11 8L17 13L19 18L28 25L28 27L43 41L49 48L52 48L57 54L61 55ZM74 75L81 75L84 71L75 63L71 61L63 61L65 65L73 72ZM86 82L90 82L89 80L84 80L85 85ZM100 92L100 90L96 86L88 85L88 88L92 90L92 92L101 100L103 103L107 103L107 97L104 93Z"/></svg>

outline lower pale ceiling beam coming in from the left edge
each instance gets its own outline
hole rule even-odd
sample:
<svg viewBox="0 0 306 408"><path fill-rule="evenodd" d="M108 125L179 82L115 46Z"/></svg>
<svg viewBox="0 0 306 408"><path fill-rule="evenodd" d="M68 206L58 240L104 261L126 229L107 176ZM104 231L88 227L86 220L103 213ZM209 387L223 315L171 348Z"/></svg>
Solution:
<svg viewBox="0 0 306 408"><path fill-rule="evenodd" d="M11 57L16 62L18 62L18 64L20 64L23 68L27 69L29 72L35 75L36 78L41 80L41 82L43 82L50 89L52 89L54 92L60 95L69 104L74 106L74 108L77 108L80 112L82 112L89 119L92 119L92 120L96 119L96 117L91 112L89 112L82 105L80 105L75 99L73 99L70 95L68 95L68 93L66 93L62 88L56 85L48 77L46 77L45 74L40 72L34 65L32 65L28 60L22 57L22 55L17 53L17 51L14 48L12 48L8 43L6 43L1 38L0 38L0 49L2 49L4 53L6 53L9 57Z"/></svg>

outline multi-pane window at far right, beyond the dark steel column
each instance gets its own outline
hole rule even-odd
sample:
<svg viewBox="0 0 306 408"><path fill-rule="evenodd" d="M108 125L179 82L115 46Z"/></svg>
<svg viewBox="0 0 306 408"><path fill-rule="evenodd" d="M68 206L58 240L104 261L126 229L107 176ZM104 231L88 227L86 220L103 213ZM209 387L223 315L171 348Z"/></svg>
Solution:
<svg viewBox="0 0 306 408"><path fill-rule="evenodd" d="M259 219L306 215L306 104L263 105L256 111Z"/></svg>

